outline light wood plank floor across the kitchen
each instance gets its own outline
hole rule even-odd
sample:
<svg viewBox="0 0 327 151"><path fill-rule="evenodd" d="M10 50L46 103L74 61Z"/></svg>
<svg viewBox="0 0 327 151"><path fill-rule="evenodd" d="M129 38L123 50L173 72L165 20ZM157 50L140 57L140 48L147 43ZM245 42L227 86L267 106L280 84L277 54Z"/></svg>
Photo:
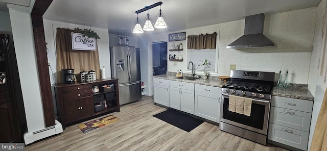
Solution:
<svg viewBox="0 0 327 151"><path fill-rule="evenodd" d="M35 142L25 149L286 150L271 144L264 146L220 131L217 125L208 122L203 122L188 133L152 116L165 110L166 108L153 104L153 97L146 96L139 102L122 106L119 113L111 113L120 118L120 121L86 134L81 132L77 124L72 125L61 134ZM100 117L95 119L98 118Z"/></svg>

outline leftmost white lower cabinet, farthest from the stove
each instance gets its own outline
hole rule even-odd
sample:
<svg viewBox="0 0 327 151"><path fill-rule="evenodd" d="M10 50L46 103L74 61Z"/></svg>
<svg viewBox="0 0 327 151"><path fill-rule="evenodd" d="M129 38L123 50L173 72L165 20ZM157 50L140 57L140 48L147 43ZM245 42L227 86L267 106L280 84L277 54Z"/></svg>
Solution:
<svg viewBox="0 0 327 151"><path fill-rule="evenodd" d="M153 78L153 102L169 107L169 81Z"/></svg>

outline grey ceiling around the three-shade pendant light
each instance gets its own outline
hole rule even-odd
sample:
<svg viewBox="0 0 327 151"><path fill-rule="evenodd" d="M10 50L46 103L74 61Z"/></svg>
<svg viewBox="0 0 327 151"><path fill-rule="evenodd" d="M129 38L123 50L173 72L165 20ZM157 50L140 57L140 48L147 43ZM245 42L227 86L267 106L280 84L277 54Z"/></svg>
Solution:
<svg viewBox="0 0 327 151"><path fill-rule="evenodd" d="M317 6L321 0L161 0L161 10L168 18L167 29L155 29L157 34L175 32L222 22L244 19L258 13L279 13ZM5 3L30 2L29 0L0 0ZM76 23L108 29L110 33L131 33L136 19L135 11L159 1L150 0L55 0L43 15L44 19ZM28 5L27 5L28 6ZM1 8L1 3L0 3ZM149 10L153 20L159 7ZM146 12L138 14L144 22ZM143 35L144 35L143 34Z"/></svg>

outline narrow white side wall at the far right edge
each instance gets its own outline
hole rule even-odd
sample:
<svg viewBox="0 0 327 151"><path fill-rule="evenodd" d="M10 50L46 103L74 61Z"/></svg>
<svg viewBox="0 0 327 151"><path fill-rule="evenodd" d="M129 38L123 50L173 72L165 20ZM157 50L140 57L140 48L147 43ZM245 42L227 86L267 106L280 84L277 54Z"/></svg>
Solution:
<svg viewBox="0 0 327 151"><path fill-rule="evenodd" d="M326 0L322 0L317 7L316 14L316 28L314 35L314 43L313 43L313 51L311 55L311 64L310 64L310 73L309 73L309 87L308 89L315 96L315 100L313 103L313 111L311 117L311 125L310 125L310 135L309 135L309 145L311 146L311 141L313 137L313 133L316 127L316 122L318 118L318 114L322 104L322 98L325 90L321 89L321 84L323 83L323 77L319 75L318 71L318 63L320 58L320 46L321 46L321 33L322 33L322 18L325 14Z"/></svg>

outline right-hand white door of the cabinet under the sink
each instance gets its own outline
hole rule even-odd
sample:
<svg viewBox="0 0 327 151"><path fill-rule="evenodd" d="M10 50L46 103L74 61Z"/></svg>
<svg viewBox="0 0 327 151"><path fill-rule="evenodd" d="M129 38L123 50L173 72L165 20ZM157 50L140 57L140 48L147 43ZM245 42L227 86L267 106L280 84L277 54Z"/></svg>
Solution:
<svg viewBox="0 0 327 151"><path fill-rule="evenodd" d="M181 111L194 114L194 91L181 89Z"/></svg>

